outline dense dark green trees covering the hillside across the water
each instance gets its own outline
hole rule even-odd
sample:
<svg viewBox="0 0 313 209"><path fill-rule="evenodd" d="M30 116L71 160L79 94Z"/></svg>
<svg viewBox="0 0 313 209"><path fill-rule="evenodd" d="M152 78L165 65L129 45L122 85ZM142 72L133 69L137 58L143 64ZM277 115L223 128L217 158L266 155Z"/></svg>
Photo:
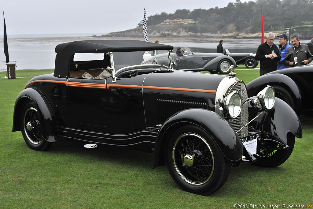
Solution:
<svg viewBox="0 0 313 209"><path fill-rule="evenodd" d="M255 0L242 3L228 3L227 7L209 9L177 9L174 13L151 15L147 25L157 25L166 19L194 19L198 24L188 26L188 31L200 33L225 32L233 30L249 30L250 33L260 32L261 13L263 12L264 30L300 29L301 25L313 22L312 0ZM138 27L142 26L141 21ZM306 25L307 25L306 24ZM310 27L310 26L306 26ZM189 30L190 29L190 30Z"/></svg>

